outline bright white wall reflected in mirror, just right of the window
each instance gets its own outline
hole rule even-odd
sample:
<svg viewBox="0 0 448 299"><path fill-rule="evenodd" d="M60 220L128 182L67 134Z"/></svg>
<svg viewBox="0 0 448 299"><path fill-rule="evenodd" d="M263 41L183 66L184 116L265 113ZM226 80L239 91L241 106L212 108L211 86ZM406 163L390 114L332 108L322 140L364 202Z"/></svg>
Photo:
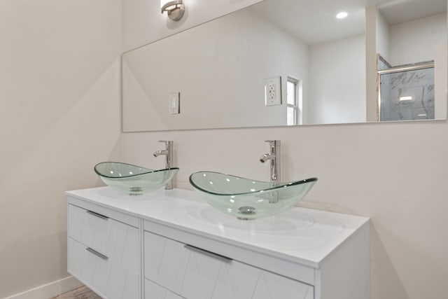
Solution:
<svg viewBox="0 0 448 299"><path fill-rule="evenodd" d="M310 46L308 86L304 124L365 122L365 36Z"/></svg>

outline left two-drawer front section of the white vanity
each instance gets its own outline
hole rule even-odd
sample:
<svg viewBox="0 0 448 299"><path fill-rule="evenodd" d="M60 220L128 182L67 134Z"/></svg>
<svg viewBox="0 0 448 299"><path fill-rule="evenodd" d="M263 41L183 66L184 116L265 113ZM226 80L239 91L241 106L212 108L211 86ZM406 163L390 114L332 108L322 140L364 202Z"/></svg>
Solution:
<svg viewBox="0 0 448 299"><path fill-rule="evenodd" d="M138 299L139 219L69 198L67 269L109 299Z"/></svg>

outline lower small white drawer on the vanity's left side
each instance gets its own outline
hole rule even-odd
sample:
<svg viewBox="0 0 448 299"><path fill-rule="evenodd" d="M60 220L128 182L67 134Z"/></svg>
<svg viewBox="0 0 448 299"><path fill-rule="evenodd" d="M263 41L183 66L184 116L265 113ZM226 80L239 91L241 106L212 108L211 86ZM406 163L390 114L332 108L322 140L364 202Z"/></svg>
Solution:
<svg viewBox="0 0 448 299"><path fill-rule="evenodd" d="M68 238L68 270L95 292L109 299L139 298L139 272L118 260Z"/></svg>

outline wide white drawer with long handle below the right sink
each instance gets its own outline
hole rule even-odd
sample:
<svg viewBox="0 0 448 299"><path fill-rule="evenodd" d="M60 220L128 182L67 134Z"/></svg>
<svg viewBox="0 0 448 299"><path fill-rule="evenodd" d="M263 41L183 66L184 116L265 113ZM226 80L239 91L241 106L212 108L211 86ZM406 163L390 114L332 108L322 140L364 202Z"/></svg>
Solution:
<svg viewBox="0 0 448 299"><path fill-rule="evenodd" d="M309 284L151 232L144 232L144 275L187 299L314 298Z"/></svg>

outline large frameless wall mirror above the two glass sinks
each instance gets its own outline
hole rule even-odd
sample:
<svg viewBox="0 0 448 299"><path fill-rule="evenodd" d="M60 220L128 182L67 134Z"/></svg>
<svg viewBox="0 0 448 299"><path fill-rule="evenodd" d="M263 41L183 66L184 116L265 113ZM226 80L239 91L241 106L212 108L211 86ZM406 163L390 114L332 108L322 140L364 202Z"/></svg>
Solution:
<svg viewBox="0 0 448 299"><path fill-rule="evenodd" d="M122 60L124 132L446 119L447 0L264 0Z"/></svg>

